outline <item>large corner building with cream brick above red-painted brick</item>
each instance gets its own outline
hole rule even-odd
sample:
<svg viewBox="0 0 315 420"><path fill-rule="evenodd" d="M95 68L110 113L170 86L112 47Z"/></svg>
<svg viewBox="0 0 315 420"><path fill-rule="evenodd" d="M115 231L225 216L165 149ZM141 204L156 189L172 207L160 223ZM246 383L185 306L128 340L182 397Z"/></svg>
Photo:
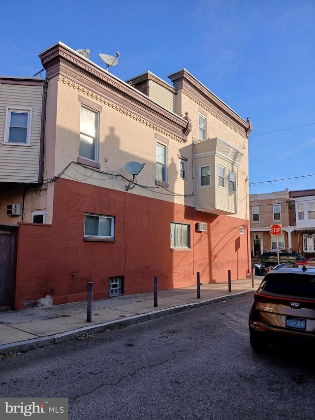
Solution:
<svg viewBox="0 0 315 420"><path fill-rule="evenodd" d="M1 196L0 223L18 226L2 307L85 300L88 282L99 299L152 291L154 276L161 290L194 285L197 272L247 277L250 122L186 69L171 86L150 72L124 82L61 42L39 57L44 154L38 178L24 179L32 188Z"/></svg>

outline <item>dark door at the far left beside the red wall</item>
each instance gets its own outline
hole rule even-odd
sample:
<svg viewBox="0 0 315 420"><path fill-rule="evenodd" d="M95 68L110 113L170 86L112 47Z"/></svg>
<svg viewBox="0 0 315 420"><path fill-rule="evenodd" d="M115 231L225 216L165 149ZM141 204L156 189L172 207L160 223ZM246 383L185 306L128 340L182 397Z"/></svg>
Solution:
<svg viewBox="0 0 315 420"><path fill-rule="evenodd" d="M15 232L13 226L0 226L0 311L12 308Z"/></svg>

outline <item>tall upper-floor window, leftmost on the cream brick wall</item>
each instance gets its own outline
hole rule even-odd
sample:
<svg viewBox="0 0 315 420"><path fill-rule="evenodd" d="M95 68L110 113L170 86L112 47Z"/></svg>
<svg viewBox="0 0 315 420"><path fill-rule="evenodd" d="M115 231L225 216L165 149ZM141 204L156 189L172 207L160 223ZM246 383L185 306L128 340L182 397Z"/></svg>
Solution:
<svg viewBox="0 0 315 420"><path fill-rule="evenodd" d="M98 160L98 112L81 106L80 149L81 158Z"/></svg>

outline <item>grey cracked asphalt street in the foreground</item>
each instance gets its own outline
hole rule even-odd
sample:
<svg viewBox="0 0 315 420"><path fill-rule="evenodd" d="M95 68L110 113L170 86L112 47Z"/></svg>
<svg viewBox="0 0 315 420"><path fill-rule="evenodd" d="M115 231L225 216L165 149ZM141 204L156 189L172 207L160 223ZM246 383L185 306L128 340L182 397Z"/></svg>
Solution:
<svg viewBox="0 0 315 420"><path fill-rule="evenodd" d="M67 397L70 420L308 420L315 361L249 343L252 296L0 360L0 396Z"/></svg>

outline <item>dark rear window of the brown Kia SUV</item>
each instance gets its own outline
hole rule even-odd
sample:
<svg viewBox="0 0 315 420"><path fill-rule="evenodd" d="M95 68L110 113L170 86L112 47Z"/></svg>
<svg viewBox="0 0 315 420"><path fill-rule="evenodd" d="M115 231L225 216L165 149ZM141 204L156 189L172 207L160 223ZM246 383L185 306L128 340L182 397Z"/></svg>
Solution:
<svg viewBox="0 0 315 420"><path fill-rule="evenodd" d="M264 291L289 296L315 298L315 275L295 273L270 273L262 281Z"/></svg>

